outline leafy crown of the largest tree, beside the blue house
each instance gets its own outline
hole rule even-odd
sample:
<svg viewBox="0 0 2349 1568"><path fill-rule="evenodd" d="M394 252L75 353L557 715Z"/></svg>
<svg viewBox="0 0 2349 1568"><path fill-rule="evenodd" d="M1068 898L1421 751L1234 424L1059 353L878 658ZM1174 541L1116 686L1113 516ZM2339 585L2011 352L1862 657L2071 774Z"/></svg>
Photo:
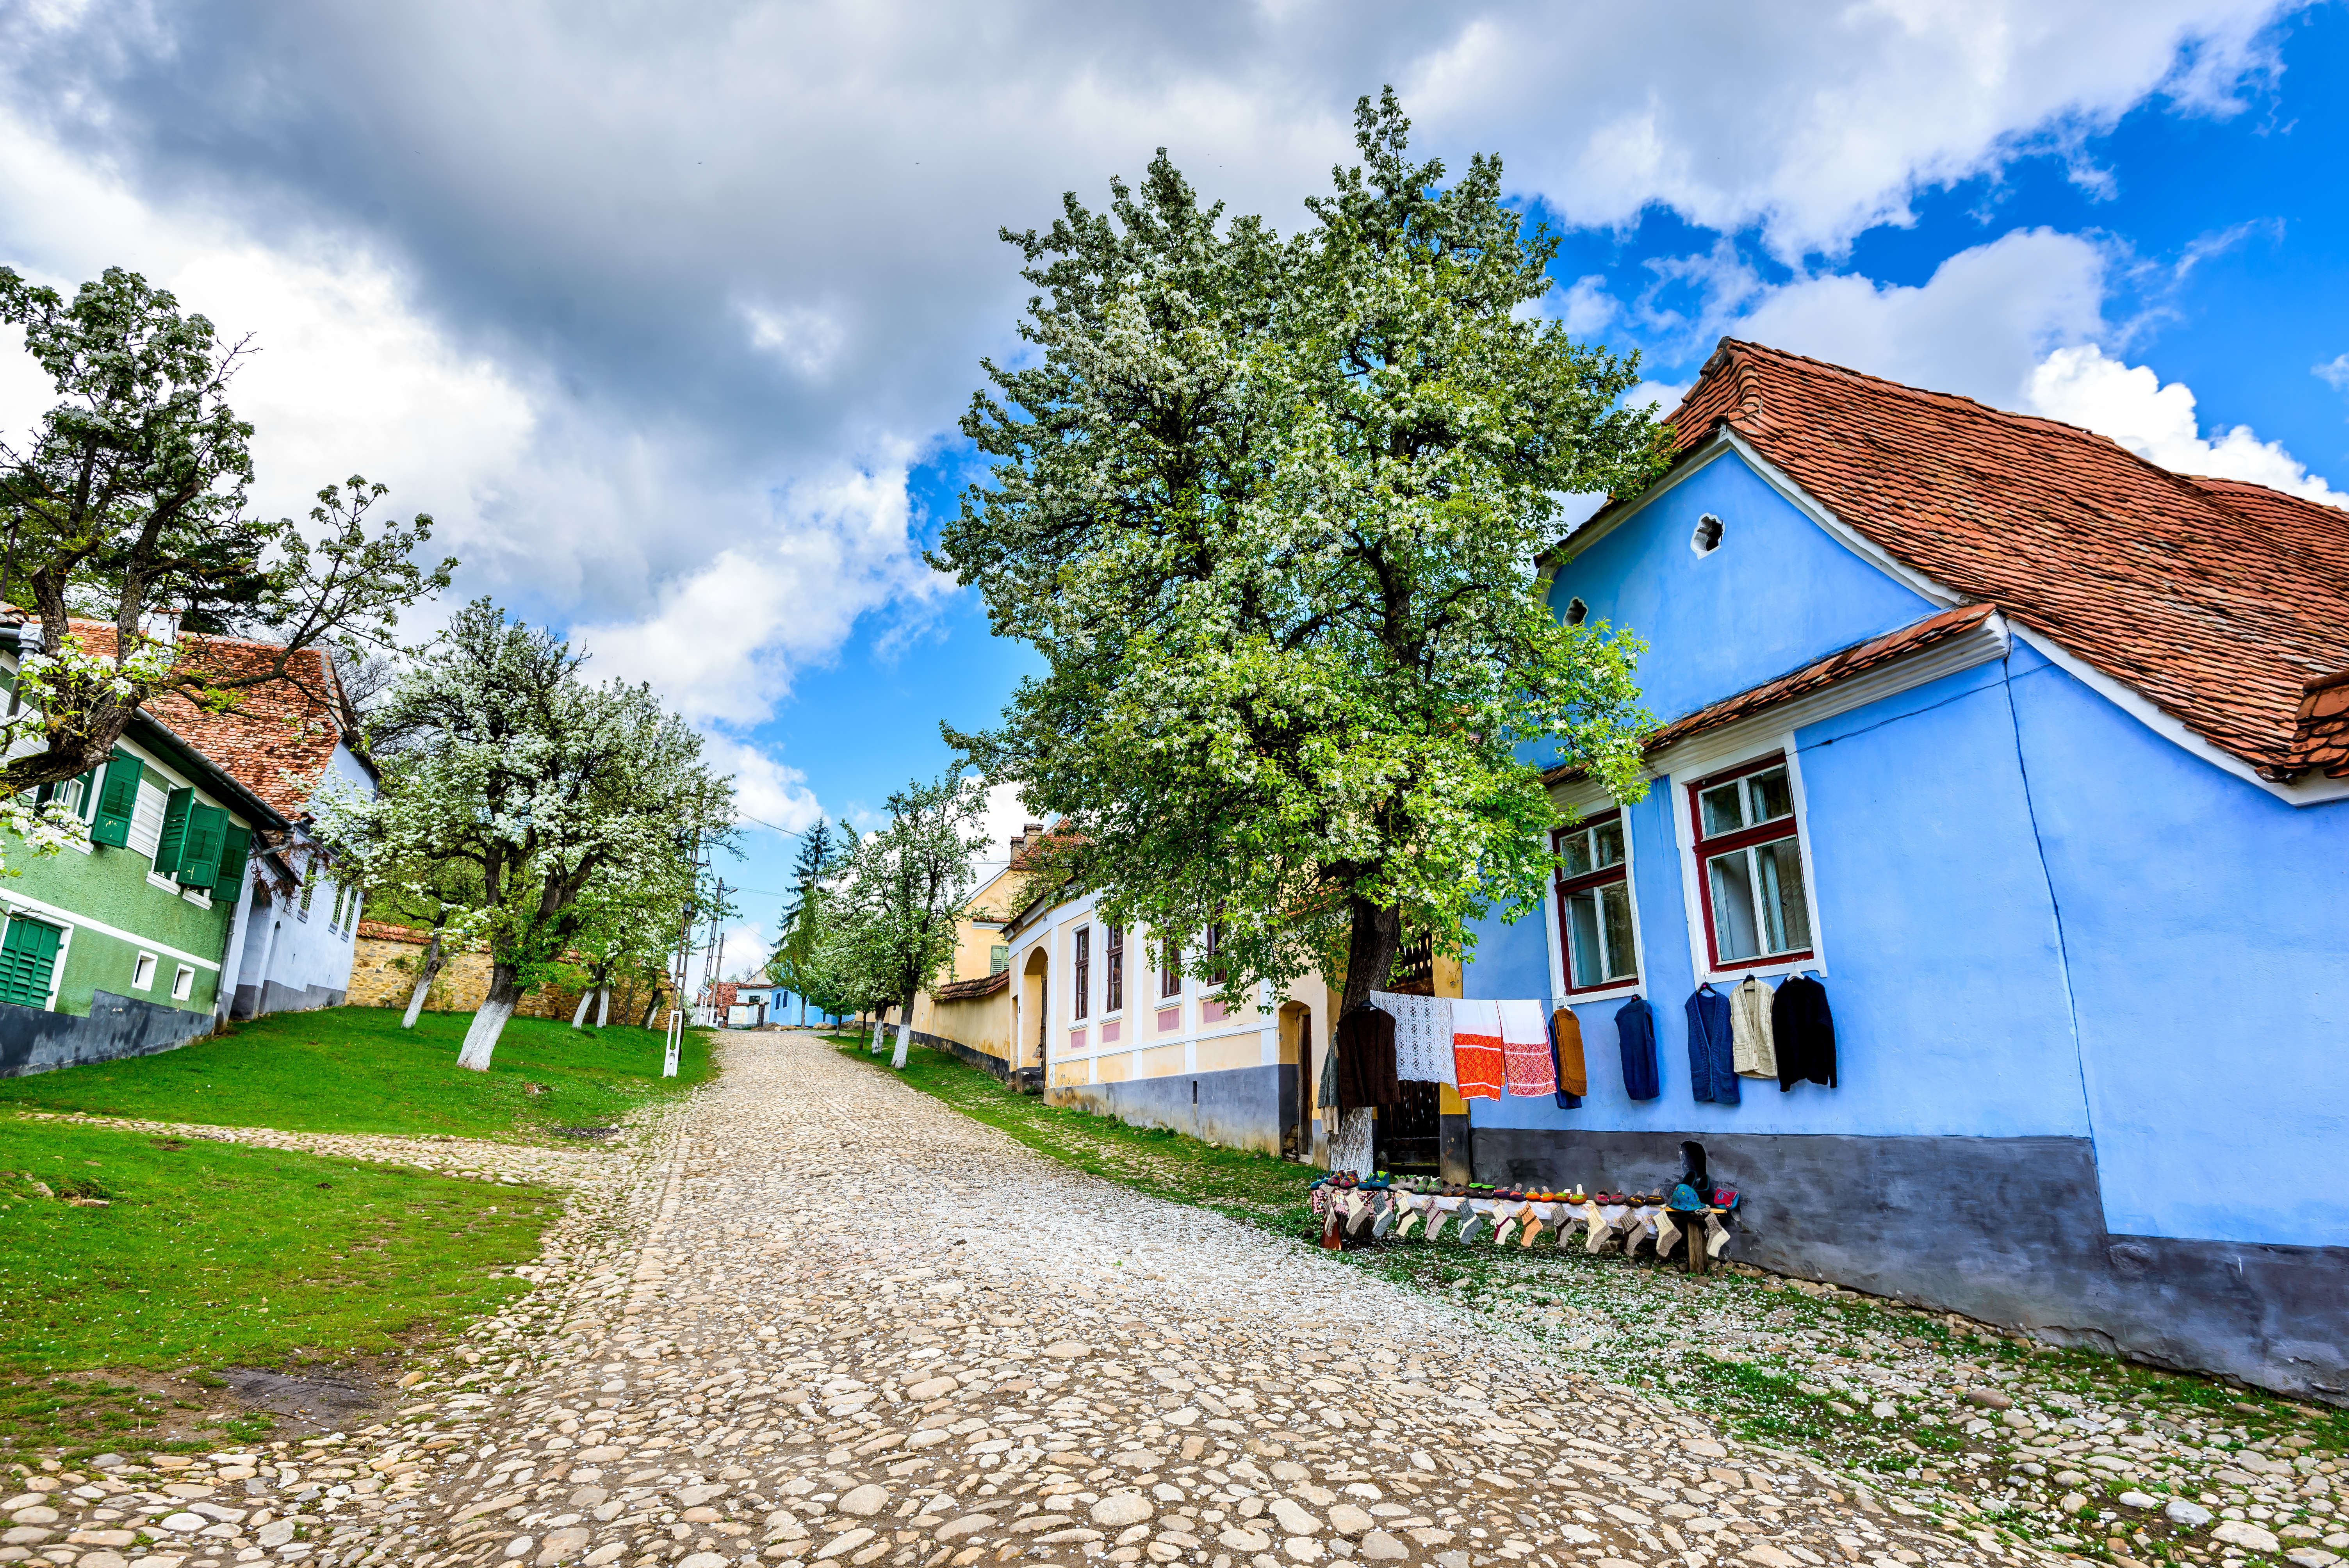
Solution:
<svg viewBox="0 0 2349 1568"><path fill-rule="evenodd" d="M947 732L1062 815L1104 920L1193 946L1226 995L1386 972L1405 927L1539 901L1560 758L1637 793L1635 643L1564 627L1541 559L1564 495L1630 493L1663 432L1616 408L1637 357L1534 305L1557 239L1478 157L1365 167L1278 239L1165 160L1106 214L1005 239L1038 289L1031 364L987 364L984 484L933 561L1045 655L1001 728Z"/></svg>

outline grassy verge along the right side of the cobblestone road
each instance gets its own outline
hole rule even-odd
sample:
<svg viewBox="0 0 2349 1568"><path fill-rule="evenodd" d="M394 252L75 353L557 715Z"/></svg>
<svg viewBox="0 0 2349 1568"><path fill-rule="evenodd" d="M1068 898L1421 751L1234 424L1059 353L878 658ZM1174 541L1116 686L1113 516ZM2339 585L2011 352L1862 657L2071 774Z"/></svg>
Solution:
<svg viewBox="0 0 2349 1568"><path fill-rule="evenodd" d="M834 1042L841 1054L888 1070L888 1052L867 1056L862 1035L834 1035ZM1062 1164L1306 1246L1320 1235L1306 1204L1308 1167L1052 1108L923 1047L909 1052L900 1077ZM2098 1523L2095 1540L2081 1540L2084 1523L2048 1505L2053 1491L2079 1488L2088 1519L2102 1512L2105 1521L2126 1521L2126 1505L2114 1505L2131 1483L2105 1472L2067 1472L2079 1479L2058 1476L2060 1486L2032 1474L2044 1467L2008 1448L2011 1432L1966 1430L1992 1411L1957 1404L1957 1387L2006 1390L2015 1406L2044 1420L2095 1415L2107 1432L2192 1425L2217 1430L2227 1448L2274 1448L2290 1439L2297 1448L2286 1451L2311 1458L2349 1453L2349 1411L2058 1350L1865 1296L1811 1296L1738 1272L1689 1279L1670 1265L1588 1256L1579 1246L1381 1242L1334 1256L1447 1296L1562 1366L1703 1411L1743 1441L1875 1474L1952 1521L1964 1516L1966 1528L1994 1528L2081 1556L2114 1556L2107 1542L2123 1537L2102 1530L2121 1528L2133 1528L2126 1545L2140 1561L2189 1561L2206 1552L2192 1549L2189 1530L2159 1514L2135 1526ZM1844 1371L1856 1361L1900 1361L1926 1371L1929 1387L1886 1401Z"/></svg>

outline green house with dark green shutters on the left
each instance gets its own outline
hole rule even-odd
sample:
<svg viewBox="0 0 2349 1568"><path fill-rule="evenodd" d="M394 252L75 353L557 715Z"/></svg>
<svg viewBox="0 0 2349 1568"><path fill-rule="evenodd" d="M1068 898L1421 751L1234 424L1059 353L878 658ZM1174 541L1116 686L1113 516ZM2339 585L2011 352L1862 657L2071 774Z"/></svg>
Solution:
<svg viewBox="0 0 2349 1568"><path fill-rule="evenodd" d="M146 714L42 796L92 843L40 857L0 833L0 1077L209 1033L256 833L287 819Z"/></svg>

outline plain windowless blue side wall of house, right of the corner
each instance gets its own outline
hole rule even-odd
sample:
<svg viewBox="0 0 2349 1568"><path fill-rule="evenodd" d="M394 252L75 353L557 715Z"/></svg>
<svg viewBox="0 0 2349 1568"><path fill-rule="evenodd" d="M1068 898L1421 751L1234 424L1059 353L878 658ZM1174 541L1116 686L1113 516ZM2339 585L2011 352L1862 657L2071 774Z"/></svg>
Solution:
<svg viewBox="0 0 2349 1568"><path fill-rule="evenodd" d="M2013 664L2105 1225L2349 1246L2349 800L2276 800Z"/></svg>

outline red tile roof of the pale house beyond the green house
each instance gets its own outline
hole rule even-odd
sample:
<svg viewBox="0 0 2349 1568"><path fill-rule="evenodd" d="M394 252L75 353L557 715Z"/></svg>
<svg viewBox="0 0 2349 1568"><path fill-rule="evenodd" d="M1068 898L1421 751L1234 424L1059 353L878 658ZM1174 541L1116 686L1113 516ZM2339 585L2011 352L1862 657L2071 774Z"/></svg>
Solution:
<svg viewBox="0 0 2349 1568"><path fill-rule="evenodd" d="M103 620L75 620L82 648L108 657L115 629ZM254 674L277 657L275 643L249 643L230 636L181 634L181 648L200 669ZM169 725L174 735L221 765L221 772L244 784L284 817L301 817L317 796L343 739L343 725L327 697L334 669L322 648L303 648L289 662L296 681L270 681L237 692L230 714L207 714L179 695L146 704L146 714ZM310 688L310 690L303 690Z"/></svg>

